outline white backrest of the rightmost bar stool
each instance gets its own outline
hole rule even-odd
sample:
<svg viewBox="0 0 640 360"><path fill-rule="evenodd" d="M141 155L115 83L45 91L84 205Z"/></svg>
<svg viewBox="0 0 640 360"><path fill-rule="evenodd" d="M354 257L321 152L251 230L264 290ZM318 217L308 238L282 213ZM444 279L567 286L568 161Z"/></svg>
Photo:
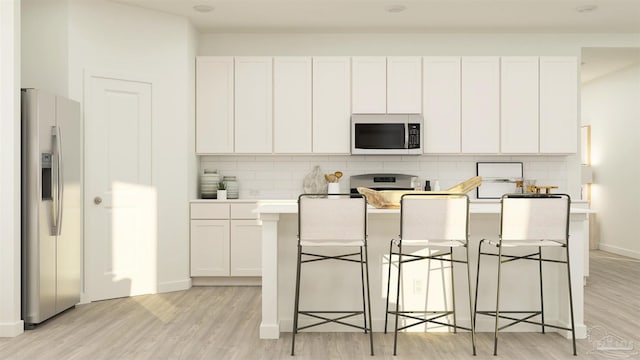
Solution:
<svg viewBox="0 0 640 360"><path fill-rule="evenodd" d="M571 199L550 196L505 195L502 197L501 240L553 240L569 238Z"/></svg>

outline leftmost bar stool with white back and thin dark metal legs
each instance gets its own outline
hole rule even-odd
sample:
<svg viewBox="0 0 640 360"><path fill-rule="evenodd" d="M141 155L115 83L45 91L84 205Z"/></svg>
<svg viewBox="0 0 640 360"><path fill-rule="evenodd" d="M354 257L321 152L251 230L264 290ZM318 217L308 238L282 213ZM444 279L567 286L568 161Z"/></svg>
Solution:
<svg viewBox="0 0 640 360"><path fill-rule="evenodd" d="M328 248L344 249L340 251L341 254L335 255ZM299 309L302 264L325 260L360 264L362 310ZM336 294L336 297L339 295ZM306 315L315 322L299 326L299 315ZM363 317L363 325L361 326L344 321L360 315ZM295 339L298 331L327 323L337 323L364 330L365 333L368 332L371 355L373 355L367 254L367 202L362 195L331 194L327 196L326 194L303 194L298 197L298 260L291 355L294 355Z"/></svg>

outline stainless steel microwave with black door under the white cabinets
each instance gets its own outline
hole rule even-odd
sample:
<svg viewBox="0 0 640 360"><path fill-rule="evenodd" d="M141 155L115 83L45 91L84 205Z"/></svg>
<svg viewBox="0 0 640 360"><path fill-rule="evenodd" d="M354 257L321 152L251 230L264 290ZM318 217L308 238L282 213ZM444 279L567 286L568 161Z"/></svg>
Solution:
<svg viewBox="0 0 640 360"><path fill-rule="evenodd" d="M421 114L351 115L351 154L420 155Z"/></svg>

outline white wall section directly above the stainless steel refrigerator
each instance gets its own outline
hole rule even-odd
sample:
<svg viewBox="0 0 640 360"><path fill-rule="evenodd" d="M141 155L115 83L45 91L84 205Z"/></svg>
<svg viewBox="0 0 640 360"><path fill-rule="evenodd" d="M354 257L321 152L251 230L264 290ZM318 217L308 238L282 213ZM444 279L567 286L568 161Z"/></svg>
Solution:
<svg viewBox="0 0 640 360"><path fill-rule="evenodd" d="M68 96L68 1L21 2L22 87Z"/></svg>

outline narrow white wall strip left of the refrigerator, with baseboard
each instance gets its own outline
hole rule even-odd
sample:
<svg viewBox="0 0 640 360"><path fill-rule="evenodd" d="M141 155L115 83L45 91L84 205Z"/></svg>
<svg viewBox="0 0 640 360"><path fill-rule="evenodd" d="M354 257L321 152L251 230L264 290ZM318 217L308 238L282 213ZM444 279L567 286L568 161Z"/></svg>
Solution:
<svg viewBox="0 0 640 360"><path fill-rule="evenodd" d="M21 334L20 2L0 1L0 337Z"/></svg>

